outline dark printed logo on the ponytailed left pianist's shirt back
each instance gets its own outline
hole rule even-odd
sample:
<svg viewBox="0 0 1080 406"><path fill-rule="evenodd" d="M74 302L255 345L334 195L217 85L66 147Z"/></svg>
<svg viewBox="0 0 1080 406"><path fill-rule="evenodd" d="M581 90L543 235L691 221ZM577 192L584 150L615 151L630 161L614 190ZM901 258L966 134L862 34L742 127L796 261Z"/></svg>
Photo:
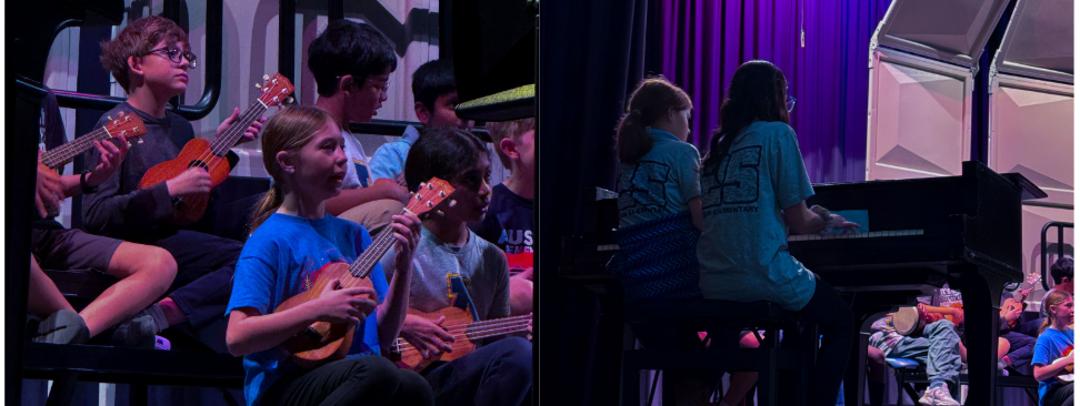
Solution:
<svg viewBox="0 0 1080 406"><path fill-rule="evenodd" d="M667 183L671 166L656 161L638 161L633 171L619 176L619 216L644 211L668 212Z"/></svg>

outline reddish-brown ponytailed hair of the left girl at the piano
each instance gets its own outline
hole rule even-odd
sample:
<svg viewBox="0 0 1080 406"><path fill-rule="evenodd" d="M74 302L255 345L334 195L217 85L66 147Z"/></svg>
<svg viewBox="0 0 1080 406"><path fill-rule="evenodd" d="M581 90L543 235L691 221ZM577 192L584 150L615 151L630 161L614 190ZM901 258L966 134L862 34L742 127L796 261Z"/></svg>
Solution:
<svg viewBox="0 0 1080 406"><path fill-rule="evenodd" d="M627 113L619 119L616 128L616 146L619 162L634 163L652 151L652 134L649 126L671 109L687 110L693 106L690 97L682 89L663 77L649 78L638 84L630 94Z"/></svg>

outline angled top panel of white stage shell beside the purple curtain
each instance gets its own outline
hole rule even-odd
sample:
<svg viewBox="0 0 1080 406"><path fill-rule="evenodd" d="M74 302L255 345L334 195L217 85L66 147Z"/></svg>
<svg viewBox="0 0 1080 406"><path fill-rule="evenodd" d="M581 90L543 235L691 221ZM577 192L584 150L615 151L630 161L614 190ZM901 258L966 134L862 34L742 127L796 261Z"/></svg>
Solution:
<svg viewBox="0 0 1080 406"><path fill-rule="evenodd" d="M870 43L976 68L1008 4L1009 0L893 0Z"/></svg>

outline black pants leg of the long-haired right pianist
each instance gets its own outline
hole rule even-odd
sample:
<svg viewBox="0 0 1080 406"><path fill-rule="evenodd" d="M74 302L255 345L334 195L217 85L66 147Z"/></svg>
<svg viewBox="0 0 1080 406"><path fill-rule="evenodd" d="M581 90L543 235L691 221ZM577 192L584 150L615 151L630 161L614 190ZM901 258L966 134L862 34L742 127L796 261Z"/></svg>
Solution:
<svg viewBox="0 0 1080 406"><path fill-rule="evenodd" d="M833 406L840 393L840 382L843 380L843 374L848 369L848 356L851 355L856 334L854 315L848 302L832 290L832 285L817 275L814 282L813 296L810 296L810 302L798 312L803 321L816 324L818 333L822 335L817 362L810 369L807 405ZM806 328L801 334L814 334L814 332L813 328ZM810 342L804 337L798 338L797 343Z"/></svg>

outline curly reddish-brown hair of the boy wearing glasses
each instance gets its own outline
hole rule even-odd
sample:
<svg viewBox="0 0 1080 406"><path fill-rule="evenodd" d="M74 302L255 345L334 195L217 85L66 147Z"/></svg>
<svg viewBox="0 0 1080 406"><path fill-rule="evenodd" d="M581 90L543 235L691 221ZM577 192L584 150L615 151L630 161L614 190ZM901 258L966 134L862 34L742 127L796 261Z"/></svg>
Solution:
<svg viewBox="0 0 1080 406"><path fill-rule="evenodd" d="M161 41L166 43L182 42L188 45L188 33L176 22L161 16L151 16L128 23L117 38L101 42L101 67L112 73L117 82L128 88L131 79L128 75L128 58L141 57L150 53L153 45Z"/></svg>

